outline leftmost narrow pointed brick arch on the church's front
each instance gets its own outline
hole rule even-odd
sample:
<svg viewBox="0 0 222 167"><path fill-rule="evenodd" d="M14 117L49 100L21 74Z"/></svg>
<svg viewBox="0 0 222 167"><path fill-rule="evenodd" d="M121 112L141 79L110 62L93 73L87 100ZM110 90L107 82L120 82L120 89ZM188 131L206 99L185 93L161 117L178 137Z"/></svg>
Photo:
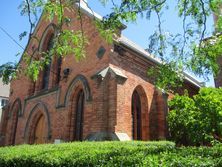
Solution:
<svg viewBox="0 0 222 167"><path fill-rule="evenodd" d="M10 107L10 112L9 112L9 118L11 118L10 138L9 138L10 145L15 145L18 117L21 115L22 115L22 103L20 98L17 98Z"/></svg>

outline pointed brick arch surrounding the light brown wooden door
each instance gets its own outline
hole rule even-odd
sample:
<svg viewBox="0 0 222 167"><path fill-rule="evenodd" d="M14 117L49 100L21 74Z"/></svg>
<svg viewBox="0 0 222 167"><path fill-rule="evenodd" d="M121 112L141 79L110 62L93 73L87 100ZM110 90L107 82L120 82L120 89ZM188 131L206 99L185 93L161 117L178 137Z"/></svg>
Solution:
<svg viewBox="0 0 222 167"><path fill-rule="evenodd" d="M34 143L34 133L35 128L38 124L38 121L41 117L44 117L47 123L47 141L51 139L51 122L50 115L46 105L42 102L37 103L33 109L31 110L29 117L26 122L25 131L24 131L24 139L26 143L33 144ZM46 142L47 142L46 141Z"/></svg>

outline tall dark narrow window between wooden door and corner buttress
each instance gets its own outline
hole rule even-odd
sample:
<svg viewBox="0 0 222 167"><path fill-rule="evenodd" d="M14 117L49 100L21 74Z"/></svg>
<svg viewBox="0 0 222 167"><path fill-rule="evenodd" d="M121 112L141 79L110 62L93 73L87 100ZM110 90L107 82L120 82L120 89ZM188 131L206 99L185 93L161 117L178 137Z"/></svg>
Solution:
<svg viewBox="0 0 222 167"><path fill-rule="evenodd" d="M74 139L77 141L83 140L83 114L84 114L84 92L80 90L76 99L76 119Z"/></svg>

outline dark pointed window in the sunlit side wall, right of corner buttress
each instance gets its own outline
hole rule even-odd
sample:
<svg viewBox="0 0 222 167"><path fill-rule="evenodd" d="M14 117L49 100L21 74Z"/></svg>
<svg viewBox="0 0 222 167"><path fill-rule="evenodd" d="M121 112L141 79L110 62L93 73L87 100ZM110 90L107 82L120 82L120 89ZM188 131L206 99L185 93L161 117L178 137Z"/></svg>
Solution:
<svg viewBox="0 0 222 167"><path fill-rule="evenodd" d="M132 96L132 134L133 140L142 140L141 100L135 90Z"/></svg>

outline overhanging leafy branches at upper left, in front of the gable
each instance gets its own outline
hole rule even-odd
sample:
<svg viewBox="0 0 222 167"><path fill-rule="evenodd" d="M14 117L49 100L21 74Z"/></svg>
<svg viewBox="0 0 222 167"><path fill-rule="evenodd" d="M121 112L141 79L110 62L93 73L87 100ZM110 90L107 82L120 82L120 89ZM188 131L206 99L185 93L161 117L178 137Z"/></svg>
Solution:
<svg viewBox="0 0 222 167"><path fill-rule="evenodd" d="M75 31L70 30L71 19L64 15L65 11L76 12L73 6L74 1L44 1L44 0L24 0L20 5L21 15L27 15L30 23L29 34L25 31L20 34L19 38L29 35L29 42L31 40L40 41L40 37L33 34L38 15L42 12L42 18L55 22L53 45L50 50L38 50L36 48L32 52L24 51L22 61L25 62L24 66L14 66L14 71L8 64L2 65L0 74L3 75L3 81L9 82L10 79L15 78L18 74L22 73L30 79L36 81L40 70L43 70L53 56L65 57L67 55L74 55L76 60L85 57L85 46L88 44L87 38L83 30ZM76 12L78 13L78 12ZM81 17L81 13L78 13ZM80 22L80 24L82 24ZM66 27L66 28L64 28ZM80 25L82 28L82 25ZM41 55L37 57L36 55Z"/></svg>

